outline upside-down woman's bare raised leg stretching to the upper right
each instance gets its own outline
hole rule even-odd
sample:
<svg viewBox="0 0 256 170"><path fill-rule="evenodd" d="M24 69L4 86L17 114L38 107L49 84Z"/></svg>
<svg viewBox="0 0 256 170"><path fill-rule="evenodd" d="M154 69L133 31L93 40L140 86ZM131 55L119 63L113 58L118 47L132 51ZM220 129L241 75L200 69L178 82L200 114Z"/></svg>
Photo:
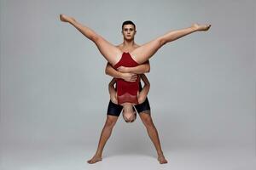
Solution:
<svg viewBox="0 0 256 170"><path fill-rule="evenodd" d="M153 41L145 43L139 48L136 48L134 51L131 52L131 56L137 61L137 63L142 64L150 57L152 57L157 52L157 50L167 42L175 41L178 38L187 36L195 31L207 31L210 27L211 25L193 24L188 28L177 31L169 31L165 35L157 37Z"/></svg>

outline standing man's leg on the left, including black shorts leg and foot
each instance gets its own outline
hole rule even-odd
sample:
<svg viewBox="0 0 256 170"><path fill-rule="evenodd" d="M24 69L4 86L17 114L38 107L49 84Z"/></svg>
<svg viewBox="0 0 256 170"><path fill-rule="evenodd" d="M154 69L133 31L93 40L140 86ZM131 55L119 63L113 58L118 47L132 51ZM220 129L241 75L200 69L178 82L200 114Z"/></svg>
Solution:
<svg viewBox="0 0 256 170"><path fill-rule="evenodd" d="M96 163L96 161L102 161L102 151L109 137L111 136L113 127L117 122L122 109L123 109L123 106L115 105L111 100L109 101L108 111L107 111L107 120L102 129L102 134L98 143L96 154L89 161L87 161L88 163L91 164L91 163Z"/></svg>

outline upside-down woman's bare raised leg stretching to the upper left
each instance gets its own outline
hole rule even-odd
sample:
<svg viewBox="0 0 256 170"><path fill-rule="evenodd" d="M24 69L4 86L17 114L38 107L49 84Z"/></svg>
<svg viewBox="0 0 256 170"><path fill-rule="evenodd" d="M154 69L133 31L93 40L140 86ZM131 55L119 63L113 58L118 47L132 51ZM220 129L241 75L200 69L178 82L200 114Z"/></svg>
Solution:
<svg viewBox="0 0 256 170"><path fill-rule="evenodd" d="M111 44L110 42L105 40L103 37L98 35L95 31L91 30L87 26L83 26L72 17L61 14L60 19L63 22L67 22L73 25L85 37L89 38L92 42L94 42L96 44L96 47L100 50L101 54L105 57L105 59L108 60L108 62L111 65L115 65L119 61L122 55L122 52L119 50L119 48L116 48L115 46L113 46L113 44Z"/></svg>

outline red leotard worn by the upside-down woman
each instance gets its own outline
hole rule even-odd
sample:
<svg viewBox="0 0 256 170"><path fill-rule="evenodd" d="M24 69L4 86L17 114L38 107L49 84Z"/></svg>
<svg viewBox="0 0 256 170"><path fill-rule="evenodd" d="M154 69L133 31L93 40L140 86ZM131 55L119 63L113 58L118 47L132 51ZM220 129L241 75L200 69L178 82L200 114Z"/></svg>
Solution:
<svg viewBox="0 0 256 170"><path fill-rule="evenodd" d="M113 68L117 69L119 66L133 67L139 65L134 59L131 58L129 53L123 53L121 59ZM139 90L139 77L136 82L126 82L121 78L116 79L116 89L118 104L125 102L138 104L137 92Z"/></svg>

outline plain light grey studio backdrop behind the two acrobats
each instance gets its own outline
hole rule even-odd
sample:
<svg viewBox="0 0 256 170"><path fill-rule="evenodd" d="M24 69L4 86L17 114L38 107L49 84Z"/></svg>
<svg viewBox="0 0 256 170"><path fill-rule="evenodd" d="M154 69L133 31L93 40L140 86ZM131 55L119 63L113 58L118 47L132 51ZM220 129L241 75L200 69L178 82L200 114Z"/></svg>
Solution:
<svg viewBox="0 0 256 170"><path fill-rule="evenodd" d="M111 77L96 46L59 20L67 14L113 44L122 42L124 20L137 25L138 44L211 23L207 33L170 42L150 59L148 99L163 150L255 150L253 1L0 2L2 149L73 144L96 150ZM131 124L119 117L105 149L154 153L139 117Z"/></svg>

